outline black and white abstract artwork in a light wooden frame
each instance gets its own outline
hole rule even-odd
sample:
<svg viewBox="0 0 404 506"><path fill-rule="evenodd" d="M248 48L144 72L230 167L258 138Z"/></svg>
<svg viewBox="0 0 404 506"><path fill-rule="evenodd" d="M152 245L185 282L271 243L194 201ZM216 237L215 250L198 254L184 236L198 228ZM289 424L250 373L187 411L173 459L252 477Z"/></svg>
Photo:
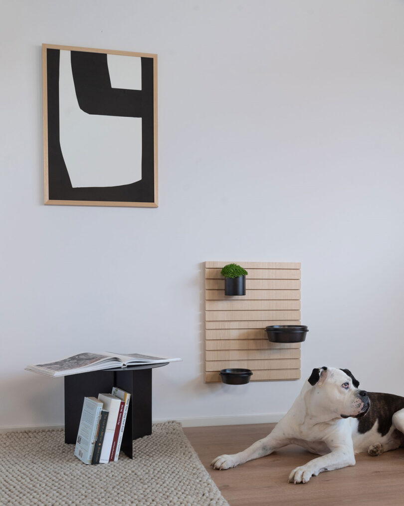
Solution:
<svg viewBox="0 0 404 506"><path fill-rule="evenodd" d="M42 45L45 204L158 206L157 55Z"/></svg>

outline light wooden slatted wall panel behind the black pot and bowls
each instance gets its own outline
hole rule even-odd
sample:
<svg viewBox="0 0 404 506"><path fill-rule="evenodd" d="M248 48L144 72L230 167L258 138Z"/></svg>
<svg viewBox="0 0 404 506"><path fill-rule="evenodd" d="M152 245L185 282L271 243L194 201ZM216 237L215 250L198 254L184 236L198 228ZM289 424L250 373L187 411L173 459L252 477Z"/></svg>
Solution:
<svg viewBox="0 0 404 506"><path fill-rule="evenodd" d="M267 325L300 323L300 264L236 262L248 271L246 296L224 294L223 266L206 262L206 382L220 382L220 369L246 367L251 381L300 377L300 343L270 343Z"/></svg>

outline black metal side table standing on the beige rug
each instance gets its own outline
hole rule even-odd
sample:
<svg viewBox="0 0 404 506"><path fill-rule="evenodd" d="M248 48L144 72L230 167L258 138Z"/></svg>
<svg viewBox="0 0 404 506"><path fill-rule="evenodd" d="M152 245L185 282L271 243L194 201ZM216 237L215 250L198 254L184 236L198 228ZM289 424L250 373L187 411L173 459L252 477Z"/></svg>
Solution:
<svg viewBox="0 0 404 506"><path fill-rule="evenodd" d="M76 443L84 397L111 393L113 387L131 395L121 450L133 458L132 441L151 434L151 370L162 364L134 365L65 376L65 443Z"/></svg>

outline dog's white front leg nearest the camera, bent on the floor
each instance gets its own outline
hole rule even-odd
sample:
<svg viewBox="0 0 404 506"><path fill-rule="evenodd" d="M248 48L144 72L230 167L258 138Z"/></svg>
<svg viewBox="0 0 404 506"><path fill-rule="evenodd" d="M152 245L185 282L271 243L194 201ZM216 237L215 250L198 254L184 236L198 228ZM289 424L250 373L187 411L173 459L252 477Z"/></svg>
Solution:
<svg viewBox="0 0 404 506"><path fill-rule="evenodd" d="M293 469L289 475L289 483L307 483L312 476L317 476L323 471L333 471L334 469L345 468L347 466L355 466L355 455L352 443L340 444L334 446L328 444L332 450L327 455L310 460L305 466L299 466ZM332 448L332 446L334 446Z"/></svg>

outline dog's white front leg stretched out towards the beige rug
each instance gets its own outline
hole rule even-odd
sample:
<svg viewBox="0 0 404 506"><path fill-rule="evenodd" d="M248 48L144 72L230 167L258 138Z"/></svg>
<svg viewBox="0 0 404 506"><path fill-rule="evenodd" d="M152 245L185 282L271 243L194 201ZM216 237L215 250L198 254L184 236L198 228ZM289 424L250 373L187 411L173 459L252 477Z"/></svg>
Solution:
<svg viewBox="0 0 404 506"><path fill-rule="evenodd" d="M266 438L256 441L244 451L240 451L234 455L225 454L216 457L211 463L211 466L213 466L214 469L220 470L235 468L239 464L243 464L248 460L269 455L273 451L281 448L282 446L286 446L287 444L289 444L287 439L276 436L271 432Z"/></svg>

